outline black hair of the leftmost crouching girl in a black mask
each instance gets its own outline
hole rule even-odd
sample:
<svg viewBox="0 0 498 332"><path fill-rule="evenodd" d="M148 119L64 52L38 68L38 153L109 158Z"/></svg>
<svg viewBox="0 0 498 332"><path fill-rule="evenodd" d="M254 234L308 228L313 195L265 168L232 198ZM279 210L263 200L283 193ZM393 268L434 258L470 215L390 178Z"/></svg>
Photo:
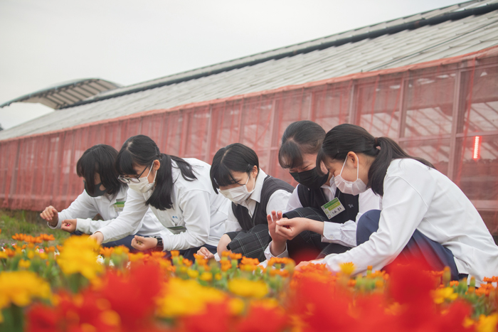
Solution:
<svg viewBox="0 0 498 332"><path fill-rule="evenodd" d="M95 173L100 176L100 182L105 187L105 193L115 196L126 184L117 179L115 168L117 150L112 146L97 144L83 153L76 163L76 173L85 179L86 190L90 196L95 193Z"/></svg>

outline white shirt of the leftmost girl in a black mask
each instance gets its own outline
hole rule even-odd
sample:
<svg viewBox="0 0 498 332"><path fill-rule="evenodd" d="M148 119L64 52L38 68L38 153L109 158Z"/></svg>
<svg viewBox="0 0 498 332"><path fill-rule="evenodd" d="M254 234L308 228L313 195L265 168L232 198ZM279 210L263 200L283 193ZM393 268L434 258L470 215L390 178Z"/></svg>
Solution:
<svg viewBox="0 0 498 332"><path fill-rule="evenodd" d="M128 187L124 186L112 198L107 195L92 197L83 189L83 193L78 196L73 203L65 210L58 213L58 223L54 227L47 223L52 229L62 225L63 220L76 219L76 230L85 234L92 234L101 227L112 223L122 211L122 205L127 200ZM95 215L99 214L104 220L92 220ZM164 231L163 225L159 223L156 216L149 209L143 218L139 218L137 227L134 228L132 234L140 234L144 236L159 236Z"/></svg>

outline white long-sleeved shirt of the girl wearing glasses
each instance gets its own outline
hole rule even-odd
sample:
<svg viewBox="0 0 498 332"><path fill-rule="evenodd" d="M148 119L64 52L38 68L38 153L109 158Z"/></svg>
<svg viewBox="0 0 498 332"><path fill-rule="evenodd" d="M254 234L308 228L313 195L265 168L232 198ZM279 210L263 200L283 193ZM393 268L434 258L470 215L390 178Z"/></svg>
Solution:
<svg viewBox="0 0 498 332"><path fill-rule="evenodd" d="M171 161L173 206L166 210L150 207L154 215L164 227L186 228L184 232L172 236L164 236L164 250L184 250L201 245L218 245L225 230L230 200L223 195L216 195L211 185L209 170L211 166L198 159L184 159L191 164L197 179L186 181L176 163ZM137 227L137 220L149 208L145 202L153 191L138 193L128 190L127 204L114 223L102 227L99 231L104 236L103 242L119 240L132 234Z"/></svg>

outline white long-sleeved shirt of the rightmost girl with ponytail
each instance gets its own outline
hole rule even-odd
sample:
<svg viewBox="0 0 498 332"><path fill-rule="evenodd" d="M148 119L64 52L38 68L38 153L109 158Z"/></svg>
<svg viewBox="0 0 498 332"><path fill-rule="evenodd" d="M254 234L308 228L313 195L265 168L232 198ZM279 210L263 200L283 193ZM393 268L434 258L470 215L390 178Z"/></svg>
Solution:
<svg viewBox="0 0 498 332"><path fill-rule="evenodd" d="M484 277L498 273L498 246L474 205L455 183L439 171L413 159L391 161L384 178L381 218L369 241L339 255L324 258L332 272L353 262L356 273L391 263L415 230L447 247L459 273Z"/></svg>

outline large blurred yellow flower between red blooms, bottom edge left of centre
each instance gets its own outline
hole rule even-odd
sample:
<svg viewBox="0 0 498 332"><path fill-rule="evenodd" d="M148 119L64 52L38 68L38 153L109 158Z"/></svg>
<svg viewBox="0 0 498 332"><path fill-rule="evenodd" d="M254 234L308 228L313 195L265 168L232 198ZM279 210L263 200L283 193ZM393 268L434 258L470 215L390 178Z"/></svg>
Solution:
<svg viewBox="0 0 498 332"><path fill-rule="evenodd" d="M225 301L223 291L203 287L196 280L171 278L165 284L163 296L157 300L157 314L161 317L177 317L200 314L209 303Z"/></svg>

